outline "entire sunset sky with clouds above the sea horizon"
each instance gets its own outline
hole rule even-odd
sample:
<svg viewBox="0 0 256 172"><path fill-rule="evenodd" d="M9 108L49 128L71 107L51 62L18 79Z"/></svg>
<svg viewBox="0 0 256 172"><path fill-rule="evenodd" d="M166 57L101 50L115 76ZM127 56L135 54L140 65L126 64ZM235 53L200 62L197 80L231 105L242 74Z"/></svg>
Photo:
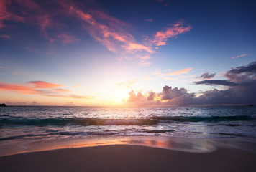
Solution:
<svg viewBox="0 0 256 172"><path fill-rule="evenodd" d="M0 0L0 103L256 104L256 1Z"/></svg>

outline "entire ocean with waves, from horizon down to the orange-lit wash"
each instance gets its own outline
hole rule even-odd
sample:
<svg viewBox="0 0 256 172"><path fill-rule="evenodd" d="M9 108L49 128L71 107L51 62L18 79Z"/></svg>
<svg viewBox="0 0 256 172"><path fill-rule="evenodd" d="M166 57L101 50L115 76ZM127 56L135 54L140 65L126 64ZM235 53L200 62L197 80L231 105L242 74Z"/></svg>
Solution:
<svg viewBox="0 0 256 172"><path fill-rule="evenodd" d="M256 138L255 107L0 107L0 156L170 138ZM168 141L169 145L164 145ZM147 143L148 144L148 143ZM162 144L162 145L161 145Z"/></svg>

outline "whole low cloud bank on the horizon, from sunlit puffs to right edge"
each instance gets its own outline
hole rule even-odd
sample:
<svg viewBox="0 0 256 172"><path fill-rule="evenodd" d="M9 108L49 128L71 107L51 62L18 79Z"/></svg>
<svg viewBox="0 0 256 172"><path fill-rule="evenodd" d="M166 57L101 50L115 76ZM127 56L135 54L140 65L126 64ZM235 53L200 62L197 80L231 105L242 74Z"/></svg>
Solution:
<svg viewBox="0 0 256 172"><path fill-rule="evenodd" d="M129 105L249 105L256 104L256 62L241 67L235 67L226 72L228 80L204 80L193 82L204 85L224 85L227 90L207 90L200 92L196 97L195 92L188 92L185 88L163 87L162 92L154 93L158 100L147 99L140 92L129 92ZM150 96L149 96L150 97ZM148 101L151 100L151 101ZM133 104L132 104L133 103Z"/></svg>

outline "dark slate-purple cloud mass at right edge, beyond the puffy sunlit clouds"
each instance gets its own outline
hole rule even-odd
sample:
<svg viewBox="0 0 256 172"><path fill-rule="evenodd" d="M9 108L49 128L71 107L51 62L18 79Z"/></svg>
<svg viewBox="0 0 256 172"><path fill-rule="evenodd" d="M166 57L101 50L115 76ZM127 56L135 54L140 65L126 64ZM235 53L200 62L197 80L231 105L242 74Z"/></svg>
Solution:
<svg viewBox="0 0 256 172"><path fill-rule="evenodd" d="M225 73L228 80L206 80L196 84L229 86L227 90L210 90L198 97L198 103L255 104L256 62L235 67Z"/></svg>

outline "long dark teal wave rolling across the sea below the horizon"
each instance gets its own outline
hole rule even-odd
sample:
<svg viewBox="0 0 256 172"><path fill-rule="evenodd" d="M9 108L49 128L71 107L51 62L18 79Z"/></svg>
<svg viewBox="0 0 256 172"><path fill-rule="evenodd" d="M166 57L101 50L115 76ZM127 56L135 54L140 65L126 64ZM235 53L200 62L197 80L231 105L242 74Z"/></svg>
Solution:
<svg viewBox="0 0 256 172"><path fill-rule="evenodd" d="M163 116L143 119L102 119L102 118L47 118L47 119L11 119L1 118L0 124L3 125L157 125L159 123L184 123L184 122L220 122L234 120L255 120L254 115L240 116Z"/></svg>

